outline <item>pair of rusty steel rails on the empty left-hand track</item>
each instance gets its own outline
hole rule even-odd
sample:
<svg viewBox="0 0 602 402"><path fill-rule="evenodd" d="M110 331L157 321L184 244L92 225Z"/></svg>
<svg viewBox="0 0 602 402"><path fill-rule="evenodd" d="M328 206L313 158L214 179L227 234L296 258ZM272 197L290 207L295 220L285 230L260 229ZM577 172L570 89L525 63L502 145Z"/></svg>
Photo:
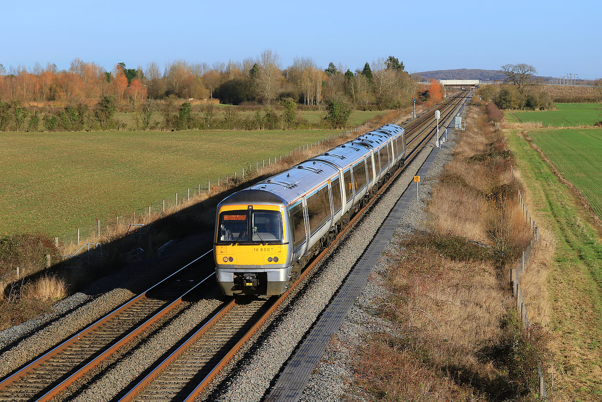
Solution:
<svg viewBox="0 0 602 402"><path fill-rule="evenodd" d="M157 289L162 284L166 283L167 280L169 280L170 278L172 278L174 275L178 274L182 270L188 268L193 263L202 259L207 254L211 253L211 251L212 250L209 250L206 253L203 253L202 256L197 257L192 262L188 263L187 265L185 265L182 268L178 269L177 271L173 272L172 274L170 274L168 277L164 278L160 282L154 284L154 286L149 287L149 289L147 289L140 295L132 298L129 301L126 301L121 306L117 307L117 309L112 310L107 315L102 316L101 318L99 318L92 324L88 325L83 330L79 331L78 333L76 333L75 335L73 335L72 337L67 339L66 341L61 342L61 344L57 345L56 347L52 348L51 350L49 350L42 356L33 360L33 362L30 362L27 365L20 368L19 370L17 370L16 372L13 372L13 373L7 375L7 377L2 379L2 381L0 382L0 391L4 391L4 392L2 392L3 394L6 392L10 392L7 389L8 387L10 387L11 385L13 385L16 382L19 382L21 380L21 378L26 377L28 374L31 374L36 369L40 368L40 366L42 366L44 363L49 362L49 360L51 360L52 357L55 357L58 354L62 353L63 351L66 351L69 347L73 347L73 346L77 345L78 342L80 342L82 339L86 338L87 336L92 335L95 331L104 327L104 325L108 324L108 322L110 322L111 319L115 318L116 316L119 316L119 315L127 312L129 309L131 309L131 307L135 306L138 302L140 302L144 298L148 298L147 295L149 292L157 291ZM212 275L213 274L209 275L209 277L211 277ZM196 286L199 286L200 283L203 283L204 281L206 281L209 277L207 277L207 278L203 279L202 281L200 281L199 283L195 284L193 286L193 289L196 288ZM131 338L134 338L138 334L142 333L146 328L150 327L154 322L157 322L158 319L160 319L161 317L166 315L170 310L175 309L180 303L182 303L182 298L185 297L185 295L187 295L190 291L192 291L192 289L188 289L183 295L181 295L181 297L176 298L176 300L174 300L168 306L161 309L159 312L155 313L151 318L147 319L145 322L143 322L143 324L139 325L137 328L134 328L133 330L130 330L130 331L126 331L125 336L122 336L121 339L119 339L117 342L115 342L113 340L113 342L108 342L107 345L105 345L104 347L101 347L100 350L104 350L104 352L100 356L98 356L95 359L93 359L92 361L86 363L84 366L82 366L80 369L78 369L78 371L76 371L74 373L74 375L70 375L70 377L66 378L66 380L64 380L63 382L61 382L60 384L58 384L57 386L52 388L51 391L48 392L48 394L43 395L39 400L40 401L48 400L47 395L54 396L54 395L57 395L58 393L60 393L60 391L62 391L66 387L66 386L63 386L64 384L70 385L73 382L75 382L77 380L77 378L81 377L81 375L84 375L86 372L90 371L90 369L92 369L94 366L98 365L98 363L100 363L102 360L106 359L108 356L110 356L110 354L114 353L116 350L118 350L120 347L125 345L128 341L130 341ZM83 362L85 362L88 359L89 359L89 357L84 358ZM75 365L75 368L80 366L81 363L82 362L79 362L77 365ZM75 374L81 374L81 375L79 375L79 377L76 377ZM51 382L50 385L52 385L52 383L53 382ZM43 388L40 391L43 391ZM0 398L2 398L2 397L3 396L0 395Z"/></svg>

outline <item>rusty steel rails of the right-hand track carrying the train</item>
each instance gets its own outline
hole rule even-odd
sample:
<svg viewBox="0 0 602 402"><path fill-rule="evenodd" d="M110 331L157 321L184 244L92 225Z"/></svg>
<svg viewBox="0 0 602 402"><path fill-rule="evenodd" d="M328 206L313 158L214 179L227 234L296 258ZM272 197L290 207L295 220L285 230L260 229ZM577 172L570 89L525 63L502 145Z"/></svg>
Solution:
<svg viewBox="0 0 602 402"><path fill-rule="evenodd" d="M450 99L450 101L447 104L445 104L444 113L447 113L447 115L445 115L445 118L443 120L445 121L445 119L449 119L450 116L455 115L455 110L456 110L456 108L458 108L458 106L461 103L462 103L462 99ZM451 113L452 111L453 111L453 113ZM432 111L432 113L430 113L430 112L427 113L427 115L434 115L434 111ZM432 116L430 116L430 118L432 118ZM426 120L429 120L429 118L427 118ZM426 131L427 128L430 126L430 124L432 124L432 123L429 123L426 128L423 128L423 130L421 130L420 133L418 133L416 136L414 136L414 138L409 143L414 142L414 140L416 140L418 137L420 137L420 134L423 133L424 131ZM424 125L424 120L421 122L421 124L414 125L414 128L412 128L410 131L417 130L418 128L421 128L423 125ZM424 138L412 150L411 156L408 159L405 159L404 162L408 162L408 160L412 159L415 155L414 152L421 149L423 144L427 140L429 140L435 132L436 132L436 128L433 129L432 131L430 131L430 133L427 133L426 136L424 136ZM194 388L194 390L192 392L190 392L190 394L187 397L184 398L185 402L194 401L194 400L196 400L197 397L199 397L199 395L203 392L203 390L206 388L206 386L208 386L209 383L211 383L211 381L213 381L213 379L216 377L216 375L228 364L228 362L232 359L232 357L235 356L235 354L238 352L238 350L240 350L240 348L243 347L245 342L247 342L250 338L252 338L253 334L263 324L265 324L265 322L267 321L268 318L270 318L272 313L275 312L275 310L278 309L279 306L281 306L282 302L292 294L293 290L297 287L297 285L302 283L303 279L313 271L313 268L323 259L324 255L326 253L328 253L330 250L332 250L332 247L334 247L335 245L338 244L338 240L340 240L341 236L344 236L350 230L350 228L353 227L355 222L358 219L360 219L362 216L364 216L365 211L368 209L368 207L370 207L374 203L374 200L376 199L377 195L379 195L386 188L388 188L389 184L392 183L399 176L400 172L403 171L404 167L405 167L405 163L403 166L400 166L400 168L397 169L397 171L394 172L393 175L391 175L391 178L389 178L389 180L386 181L386 183L383 184L383 186L381 186L379 190L377 190L377 192L375 193L373 198L371 198L370 201L368 201L368 203L361 210L359 210L358 213L355 214L355 216L353 216L353 218L350 220L349 224L343 230L341 230L340 233L337 234L337 237L335 237L334 241L329 245L329 247L324 248L324 250L322 250L321 253L318 254L318 256L315 257L315 259L313 259L311 263L309 263L309 265L303 270L302 274L297 279L297 281L291 286L291 288L288 289L287 292L285 292L284 294L279 296L277 300L273 301L273 304L265 311L265 313L252 325L252 327L249 330L246 331L246 333L243 336L241 336L238 339L238 341L236 342L234 347L232 347L227 353L224 354L224 356L219 360L219 362L216 364L216 366L214 366L214 368L211 369L211 371L209 371L209 374L205 375L205 377ZM272 303L272 302L266 301L266 303ZM161 362L160 365L158 365L153 371L151 371L149 374L147 374L140 382L137 383L137 385L135 385L132 389L130 389L128 391L128 393L119 400L119 402L129 402L129 401L133 401L135 399L141 400L142 399L141 397L137 398L137 396L140 394L140 392L143 391L143 389L146 388L147 386L151 385L155 379L161 378L160 377L161 372L165 371L172 363L174 363L177 360L178 356L181 356L182 354L184 354L185 350L190 348L191 345L194 344L194 342L198 341L200 339L200 336L202 336L202 334L207 333L209 328L212 325L216 324L216 322L218 322L219 319L222 318L226 314L226 312L231 310L233 307L234 307L234 301L232 301L231 304L229 304L228 306L224 307L223 310L220 310L220 312L217 313L205 325L203 325L203 327L200 328L199 331L197 331L189 339L187 339L187 341L185 341L184 344L182 344L182 346L180 348L178 348L178 350L176 350L172 354L170 354L170 356L167 357L167 359L163 360L163 362ZM199 369L199 371L200 371L200 369ZM182 387L182 389L183 388L184 388L184 386Z"/></svg>

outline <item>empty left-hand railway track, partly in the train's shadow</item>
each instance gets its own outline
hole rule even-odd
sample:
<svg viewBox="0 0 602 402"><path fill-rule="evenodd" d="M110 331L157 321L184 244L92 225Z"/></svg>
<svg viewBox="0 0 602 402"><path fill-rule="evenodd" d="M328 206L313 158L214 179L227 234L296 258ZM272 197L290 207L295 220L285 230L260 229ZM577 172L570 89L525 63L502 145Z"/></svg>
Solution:
<svg viewBox="0 0 602 402"><path fill-rule="evenodd" d="M0 381L0 401L48 401L176 315L213 276L207 252ZM129 345L131 346L131 344Z"/></svg>

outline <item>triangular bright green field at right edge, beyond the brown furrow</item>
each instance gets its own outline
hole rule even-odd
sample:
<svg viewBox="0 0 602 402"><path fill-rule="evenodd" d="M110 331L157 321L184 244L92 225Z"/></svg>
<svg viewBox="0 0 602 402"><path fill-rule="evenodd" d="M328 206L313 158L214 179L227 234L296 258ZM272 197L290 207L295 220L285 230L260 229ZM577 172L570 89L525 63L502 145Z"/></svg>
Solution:
<svg viewBox="0 0 602 402"><path fill-rule="evenodd" d="M535 130L529 136L602 217L602 128Z"/></svg>

